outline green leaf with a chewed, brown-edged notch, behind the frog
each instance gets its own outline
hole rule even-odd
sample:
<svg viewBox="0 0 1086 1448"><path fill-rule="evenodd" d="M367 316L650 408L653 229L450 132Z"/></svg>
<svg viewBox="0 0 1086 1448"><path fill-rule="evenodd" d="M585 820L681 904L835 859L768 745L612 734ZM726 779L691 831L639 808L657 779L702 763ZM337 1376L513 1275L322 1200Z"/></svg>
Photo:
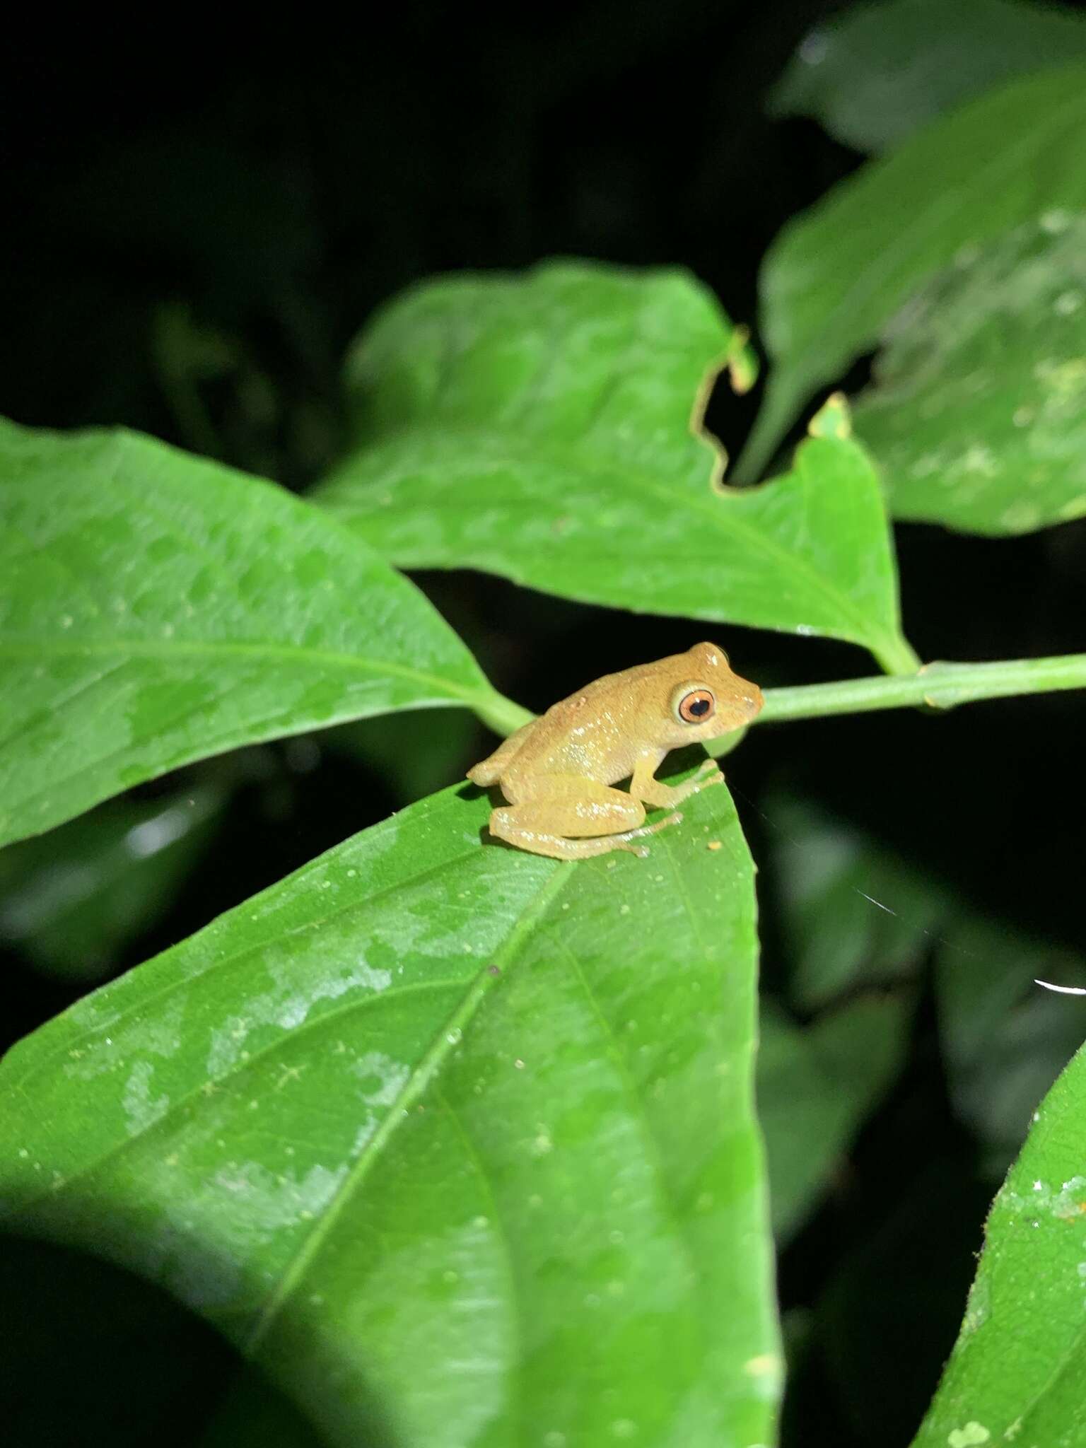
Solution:
<svg viewBox="0 0 1086 1448"><path fill-rule="evenodd" d="M714 487L691 408L736 336L682 272L563 262L430 282L358 343L359 443L317 498L403 568L830 634L912 668L854 443L812 439L757 491Z"/></svg>

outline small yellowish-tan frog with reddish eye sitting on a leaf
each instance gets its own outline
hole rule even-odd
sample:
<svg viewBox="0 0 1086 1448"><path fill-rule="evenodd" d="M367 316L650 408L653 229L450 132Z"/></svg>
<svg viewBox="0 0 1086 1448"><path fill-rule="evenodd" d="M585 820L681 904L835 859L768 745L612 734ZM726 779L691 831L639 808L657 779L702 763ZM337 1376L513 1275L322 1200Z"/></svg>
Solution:
<svg viewBox="0 0 1086 1448"><path fill-rule="evenodd" d="M468 779L501 785L510 804L491 814L489 830L521 850L557 860L608 850L644 856L633 840L682 820L673 812L646 825L646 805L673 809L724 780L708 759L685 783L660 783L653 775L668 750L740 728L760 708L762 691L733 673L724 650L695 643L686 653L607 673L552 704L469 769ZM611 788L627 778L628 794Z"/></svg>

